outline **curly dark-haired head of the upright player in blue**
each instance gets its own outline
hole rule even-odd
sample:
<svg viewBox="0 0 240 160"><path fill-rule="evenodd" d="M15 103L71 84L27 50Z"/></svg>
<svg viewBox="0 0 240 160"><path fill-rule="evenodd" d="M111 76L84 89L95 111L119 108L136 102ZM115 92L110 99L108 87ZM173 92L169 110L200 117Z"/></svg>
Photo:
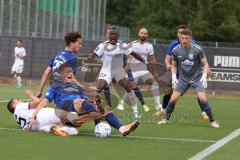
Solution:
<svg viewBox="0 0 240 160"><path fill-rule="evenodd" d="M69 32L64 36L66 46L72 52L78 52L82 47L81 34L79 32Z"/></svg>

